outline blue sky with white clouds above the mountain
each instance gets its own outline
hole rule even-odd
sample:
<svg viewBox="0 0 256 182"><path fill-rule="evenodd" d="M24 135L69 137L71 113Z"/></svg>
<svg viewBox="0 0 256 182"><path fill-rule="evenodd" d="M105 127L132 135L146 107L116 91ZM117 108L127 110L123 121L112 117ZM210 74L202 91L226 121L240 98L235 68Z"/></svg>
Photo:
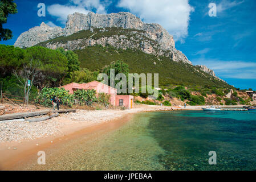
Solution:
<svg viewBox="0 0 256 182"><path fill-rule="evenodd" d="M4 28L13 39L45 22L65 27L67 15L75 12L108 14L130 12L145 23L159 23L174 36L176 48L193 65L206 65L236 88L256 90L256 1L255 0L14 0L17 14L9 15ZM38 16L38 4L46 16ZM210 3L216 5L209 6ZM212 4L211 4L212 5ZM216 15L210 16L210 14Z"/></svg>

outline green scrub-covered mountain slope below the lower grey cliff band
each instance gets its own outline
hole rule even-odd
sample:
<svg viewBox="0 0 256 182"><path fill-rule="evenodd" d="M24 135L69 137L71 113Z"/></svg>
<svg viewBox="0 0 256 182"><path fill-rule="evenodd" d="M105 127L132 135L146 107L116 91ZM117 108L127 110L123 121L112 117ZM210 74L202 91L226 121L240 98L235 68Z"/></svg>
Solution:
<svg viewBox="0 0 256 182"><path fill-rule="evenodd" d="M122 60L128 64L130 73L159 73L160 86L215 86L231 88L230 85L201 71L193 65L177 63L168 57L157 58L142 51L116 49L110 46L93 46L76 50L80 66L99 71L112 61Z"/></svg>

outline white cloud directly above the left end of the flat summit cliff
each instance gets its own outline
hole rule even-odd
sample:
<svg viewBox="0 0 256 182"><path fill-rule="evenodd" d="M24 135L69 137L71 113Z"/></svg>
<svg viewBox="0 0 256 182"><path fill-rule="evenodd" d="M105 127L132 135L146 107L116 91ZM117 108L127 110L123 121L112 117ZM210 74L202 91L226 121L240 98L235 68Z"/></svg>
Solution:
<svg viewBox="0 0 256 182"><path fill-rule="evenodd" d="M57 17L61 23L66 23L67 16L75 12L88 14L92 10L96 13L105 14L107 3L101 3L100 0L70 0L67 5L54 4L48 6L47 11L50 15Z"/></svg>

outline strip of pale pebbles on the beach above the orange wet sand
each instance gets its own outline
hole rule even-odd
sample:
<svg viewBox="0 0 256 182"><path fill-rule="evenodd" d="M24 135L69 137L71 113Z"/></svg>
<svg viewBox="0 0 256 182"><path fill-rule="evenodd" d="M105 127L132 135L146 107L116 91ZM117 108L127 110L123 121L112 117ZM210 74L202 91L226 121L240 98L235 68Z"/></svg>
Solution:
<svg viewBox="0 0 256 182"><path fill-rule="evenodd" d="M0 142L13 142L21 140L35 140L43 137L55 136L63 133L63 127L74 123L108 122L112 119L123 117L124 114L132 114L140 111L170 110L165 106L143 106L131 110L77 110L76 113L60 114L59 117L41 122L5 122L0 123ZM100 121L102 119L102 121ZM63 122L65 121L65 122Z"/></svg>

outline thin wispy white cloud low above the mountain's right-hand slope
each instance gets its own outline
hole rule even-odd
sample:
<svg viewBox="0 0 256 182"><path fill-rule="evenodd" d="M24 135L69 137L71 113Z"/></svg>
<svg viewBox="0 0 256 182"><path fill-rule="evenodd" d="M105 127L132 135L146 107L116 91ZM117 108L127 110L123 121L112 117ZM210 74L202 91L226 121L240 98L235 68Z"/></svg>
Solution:
<svg viewBox="0 0 256 182"><path fill-rule="evenodd" d="M222 61L216 59L196 59L193 64L206 65L213 69L217 76L223 78L255 79L256 63L246 61Z"/></svg>

